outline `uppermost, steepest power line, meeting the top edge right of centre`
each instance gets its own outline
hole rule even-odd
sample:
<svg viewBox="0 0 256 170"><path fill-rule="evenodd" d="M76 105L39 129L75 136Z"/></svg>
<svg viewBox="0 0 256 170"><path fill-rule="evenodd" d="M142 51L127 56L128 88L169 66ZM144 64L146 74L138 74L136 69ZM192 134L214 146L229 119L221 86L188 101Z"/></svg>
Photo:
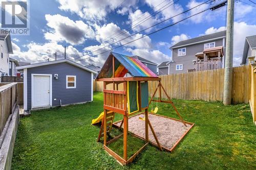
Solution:
<svg viewBox="0 0 256 170"><path fill-rule="evenodd" d="M177 1L174 2L173 4L170 4L170 3L173 2L173 1L170 1L169 3L165 4L163 7L161 7L160 9L158 9L157 11L155 11L155 12L149 14L147 17L145 17L144 19L142 19L142 20L140 20L139 22L137 22L134 26L130 27L129 29L123 30L123 31L121 31L120 33L118 33L117 35L115 35L116 33L112 34L112 35L115 35L115 36L112 37L112 38L110 38L108 41L105 41L105 42L104 42L103 44L101 44L100 46L102 46L102 45L104 45L104 44L110 42L110 41L111 41L112 39L114 39L114 38L120 37L121 35L123 35L123 34L126 33L126 32L129 32L129 31L132 30L133 28L135 28L135 27L141 25L142 23L144 23L144 22L147 21L148 19L150 19L150 18L156 16L157 14L159 14L159 13L162 12L163 10L167 9L168 7L174 5L174 4L177 3L178 1L180 1L180 0L177 0ZM170 5L167 6L167 7L165 7L165 6L168 5L168 4L170 4ZM164 8L164 7L165 7L165 8ZM162 8L164 8L164 9L162 9ZM162 9L162 10L161 10L161 9ZM159 10L160 10L160 11L159 11ZM148 17L149 17L149 18L148 18ZM132 23L133 23L133 22L132 22ZM92 51L92 50L94 50L94 49L96 49L96 48L99 48L100 46L93 47L90 51ZM96 51L93 51L93 52L96 52Z"/></svg>

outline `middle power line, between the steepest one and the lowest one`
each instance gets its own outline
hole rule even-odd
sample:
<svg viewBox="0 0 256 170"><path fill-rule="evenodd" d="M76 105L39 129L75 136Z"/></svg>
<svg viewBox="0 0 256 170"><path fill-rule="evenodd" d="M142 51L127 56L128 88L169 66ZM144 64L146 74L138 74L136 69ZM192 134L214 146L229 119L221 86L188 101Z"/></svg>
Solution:
<svg viewBox="0 0 256 170"><path fill-rule="evenodd" d="M201 3L201 4L199 4L199 5L197 5L197 6L193 7L193 8L190 8L190 9L188 9L188 10L186 10L186 11L183 11L183 12L181 12L181 13L179 13L179 14L176 14L176 15L174 15L174 16L172 16L172 17L169 17L169 18L167 18L167 19L165 19L165 20L163 20L163 21L161 21L161 22L156 23L155 25L153 25L153 26L151 26L151 27L148 27L148 28L146 28L146 29L144 29L144 30L141 30L141 31L139 31L139 32L137 32L137 33L134 33L134 34L132 34L132 35L130 35L130 36L127 36L127 37L125 37L125 38L123 38L123 39L120 39L120 40L118 40L118 41L116 41L116 42L113 42L113 43L111 43L111 44L109 44L109 45L107 45L107 46L101 47L101 48L99 48L99 49L96 50L96 51L99 51L99 50L101 50L101 49L103 49L103 48L105 48L105 47L111 46L111 45L113 45L113 44L115 44L115 43L117 43L117 42L120 42L120 41L124 40L124 39L130 38L130 37L132 37L132 36L134 36L134 35L136 35L136 34L139 34L139 33L143 32L143 31L145 31L145 30L151 29L151 28L153 28L153 27L159 25L160 23L165 22L166 20L172 19L172 18L174 18L174 17L176 17L176 16L178 16L178 15L184 14L184 13L190 11L190 10L193 10L193 9L195 9L195 8L197 8L197 7L201 6L201 5L203 5L203 4L207 3L207 2L209 2L209 1L211 1L211 0L208 0L208 1L204 2L204 3ZM92 53L94 53L94 52L96 52L96 51L90 52L90 53L88 53L88 54L92 54ZM87 55L88 55L88 54L87 54ZM83 57L83 56L82 56L82 57ZM81 58L81 57L74 58L74 60L75 60L75 59L78 59L78 58Z"/></svg>

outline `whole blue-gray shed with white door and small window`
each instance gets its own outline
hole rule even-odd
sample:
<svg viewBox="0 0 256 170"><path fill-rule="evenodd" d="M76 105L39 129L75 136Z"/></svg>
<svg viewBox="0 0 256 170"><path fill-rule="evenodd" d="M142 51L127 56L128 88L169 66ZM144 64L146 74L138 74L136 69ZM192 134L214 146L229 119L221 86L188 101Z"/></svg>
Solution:
<svg viewBox="0 0 256 170"><path fill-rule="evenodd" d="M24 71L24 110L93 101L96 71L69 59L16 67Z"/></svg>

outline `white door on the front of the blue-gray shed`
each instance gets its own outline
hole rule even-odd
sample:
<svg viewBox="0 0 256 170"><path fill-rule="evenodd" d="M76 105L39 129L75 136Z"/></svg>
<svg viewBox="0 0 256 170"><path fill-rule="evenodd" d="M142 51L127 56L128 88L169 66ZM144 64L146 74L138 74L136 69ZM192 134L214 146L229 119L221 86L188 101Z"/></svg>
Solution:
<svg viewBox="0 0 256 170"><path fill-rule="evenodd" d="M34 76L33 108L50 105L50 76Z"/></svg>

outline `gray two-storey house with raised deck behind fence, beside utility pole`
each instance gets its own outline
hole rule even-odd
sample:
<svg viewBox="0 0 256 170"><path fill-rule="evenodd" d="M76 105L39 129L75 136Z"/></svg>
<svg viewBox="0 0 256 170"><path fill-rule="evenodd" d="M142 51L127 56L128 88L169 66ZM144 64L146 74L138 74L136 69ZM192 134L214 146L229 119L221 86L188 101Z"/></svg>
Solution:
<svg viewBox="0 0 256 170"><path fill-rule="evenodd" d="M180 41L170 47L169 74L224 67L226 31Z"/></svg>

